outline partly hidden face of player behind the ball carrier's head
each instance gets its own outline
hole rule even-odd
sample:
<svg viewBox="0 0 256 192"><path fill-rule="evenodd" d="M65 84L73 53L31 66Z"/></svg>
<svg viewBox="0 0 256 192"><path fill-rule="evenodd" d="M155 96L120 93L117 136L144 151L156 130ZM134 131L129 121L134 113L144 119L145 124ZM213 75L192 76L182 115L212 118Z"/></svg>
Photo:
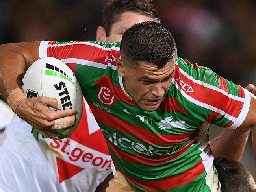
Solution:
<svg viewBox="0 0 256 192"><path fill-rule="evenodd" d="M154 19L150 16L141 15L135 12L122 13L119 20L113 23L113 25L111 26L109 37L106 37L105 42L121 42L122 35L129 27L133 26L136 23L153 20Z"/></svg>

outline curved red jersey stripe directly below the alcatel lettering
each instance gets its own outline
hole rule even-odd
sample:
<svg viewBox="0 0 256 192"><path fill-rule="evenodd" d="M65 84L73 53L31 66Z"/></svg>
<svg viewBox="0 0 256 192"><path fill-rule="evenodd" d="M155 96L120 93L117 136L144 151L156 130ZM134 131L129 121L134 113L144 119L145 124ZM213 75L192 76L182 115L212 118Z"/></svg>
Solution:
<svg viewBox="0 0 256 192"><path fill-rule="evenodd" d="M184 146L183 148L176 151L173 155L169 155L167 157L158 157L158 158L154 158L153 155L151 155L151 153L150 153L151 157L149 157L149 156L144 157L141 155L130 154L130 153L127 153L126 151L119 150L118 148L113 146L113 144L109 140L107 140L107 143L108 143L108 146L113 151L113 153L115 153L115 155L119 159L122 159L126 162L140 163L140 164L145 164L148 166L156 166L158 164L163 164L165 162L171 161L171 160L179 157L180 155L182 155L189 147L191 147L191 145L195 142L195 140L197 140L197 138L198 138L198 136L195 137L193 140L191 140L186 146ZM154 153L153 150L152 150L152 152Z"/></svg>

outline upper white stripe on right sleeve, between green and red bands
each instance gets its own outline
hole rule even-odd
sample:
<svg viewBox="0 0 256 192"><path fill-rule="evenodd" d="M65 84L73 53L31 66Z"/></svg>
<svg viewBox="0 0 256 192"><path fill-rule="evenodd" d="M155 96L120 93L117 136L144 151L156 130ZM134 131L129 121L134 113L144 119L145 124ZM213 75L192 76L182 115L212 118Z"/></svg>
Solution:
<svg viewBox="0 0 256 192"><path fill-rule="evenodd" d="M228 92L226 92L226 91L224 91L224 90L222 90L222 89L220 89L218 87L215 87L213 85L210 85L210 84L205 83L205 82L200 81L200 80L196 80L196 79L193 78L193 76L190 76L189 74L187 74L187 72L185 72L181 68L179 68L179 70L180 70L180 73L182 75L186 76L189 80L193 81L194 83L196 83L198 85L202 85L202 86L207 87L209 89L216 90L217 92L220 92L220 93L224 94L225 96L227 96L227 97L229 97L229 98L231 98L233 100L244 102L244 98L242 98L242 97L239 97L239 96L236 96L236 95L232 95L232 94L230 94L230 93L228 93Z"/></svg>

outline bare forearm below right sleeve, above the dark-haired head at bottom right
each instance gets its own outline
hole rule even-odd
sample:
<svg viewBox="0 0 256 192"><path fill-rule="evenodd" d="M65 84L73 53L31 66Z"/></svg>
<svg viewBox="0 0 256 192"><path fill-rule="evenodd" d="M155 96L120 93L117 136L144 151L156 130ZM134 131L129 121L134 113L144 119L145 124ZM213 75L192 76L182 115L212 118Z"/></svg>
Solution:
<svg viewBox="0 0 256 192"><path fill-rule="evenodd" d="M221 135L210 142L214 157L228 157L239 161L243 155L250 129L223 129Z"/></svg>

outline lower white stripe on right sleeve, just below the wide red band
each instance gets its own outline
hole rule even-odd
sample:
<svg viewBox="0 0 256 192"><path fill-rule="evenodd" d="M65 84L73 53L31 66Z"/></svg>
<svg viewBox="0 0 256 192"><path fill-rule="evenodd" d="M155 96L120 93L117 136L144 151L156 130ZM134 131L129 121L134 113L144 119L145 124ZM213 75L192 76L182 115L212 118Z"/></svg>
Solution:
<svg viewBox="0 0 256 192"><path fill-rule="evenodd" d="M234 116L231 116L227 113L225 113L224 111L222 111L221 109L218 109L217 107L213 107L211 105L208 105L206 103L200 102L196 99L194 99L193 97L187 95L182 89L180 89L180 87L178 86L178 83L173 79L172 83L174 84L174 86L176 87L176 89L179 90L180 94L182 94L182 96L184 96L187 100L195 103L196 105L200 106L200 107L204 107L206 109L210 109L211 111L215 111L221 115L223 115L225 118L227 118L230 121L235 122L237 118L235 118Z"/></svg>

